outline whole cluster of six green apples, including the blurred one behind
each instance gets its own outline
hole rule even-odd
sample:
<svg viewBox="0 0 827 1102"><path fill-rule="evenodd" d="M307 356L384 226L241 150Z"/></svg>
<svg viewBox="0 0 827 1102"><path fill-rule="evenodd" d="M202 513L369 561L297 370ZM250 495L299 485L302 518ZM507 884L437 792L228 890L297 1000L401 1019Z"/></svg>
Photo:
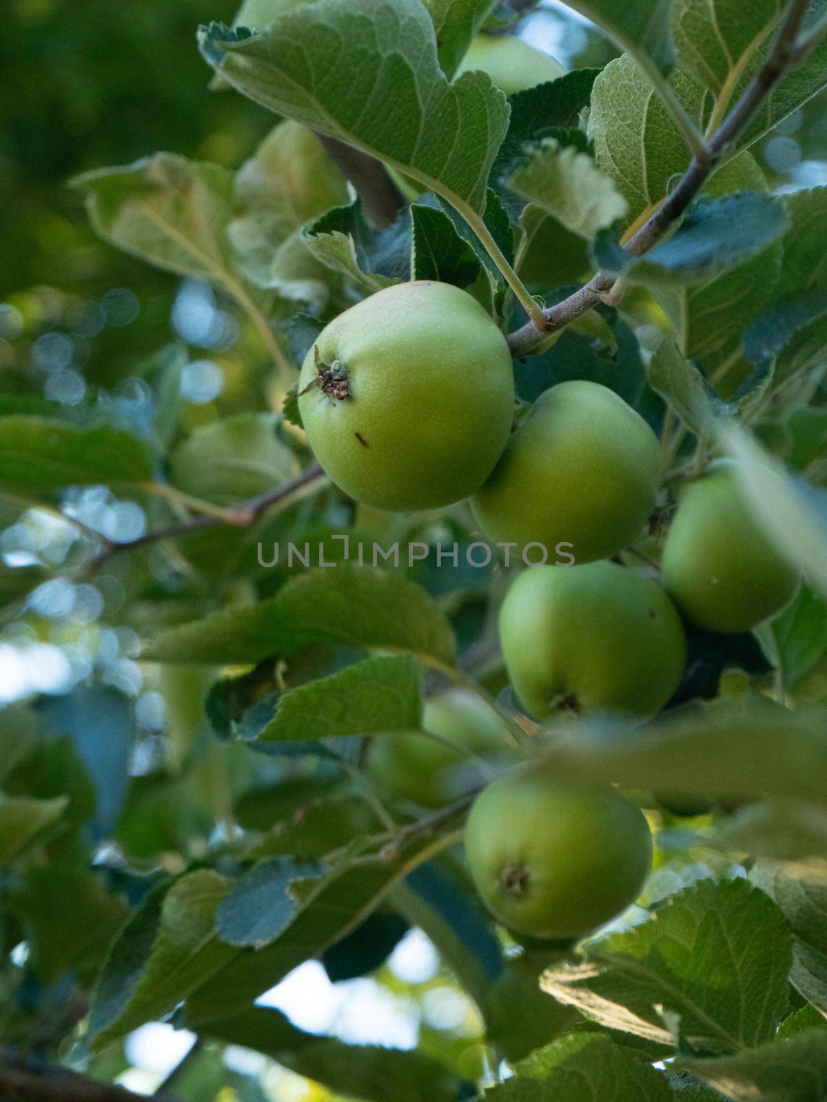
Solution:
<svg viewBox="0 0 827 1102"><path fill-rule="evenodd" d="M505 667L534 720L645 721L681 680L686 624L749 630L796 592L796 571L726 462L687 486L659 579L616 561L657 506L655 433L614 391L584 380L551 387L515 426L508 345L455 287L396 284L336 317L304 360L299 408L320 463L357 501L406 511L470 498L491 541L571 548L573 565L518 573L500 612ZM479 787L479 770L463 764L491 761L506 745L496 711L466 691L429 700L423 728L368 752L375 781L423 807L450 802L472 777ZM635 803L612 787L561 785L541 759L483 788L465 844L492 912L544 939L609 921L638 895L652 860Z"/></svg>

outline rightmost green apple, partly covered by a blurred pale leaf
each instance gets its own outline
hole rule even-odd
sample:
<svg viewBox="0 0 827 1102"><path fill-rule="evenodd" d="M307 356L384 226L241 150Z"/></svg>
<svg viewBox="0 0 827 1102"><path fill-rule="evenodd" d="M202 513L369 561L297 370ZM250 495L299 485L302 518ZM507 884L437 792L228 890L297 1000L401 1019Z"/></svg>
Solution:
<svg viewBox="0 0 827 1102"><path fill-rule="evenodd" d="M729 462L687 486L664 544L664 585L708 631L749 631L798 592L798 571L755 520Z"/></svg>

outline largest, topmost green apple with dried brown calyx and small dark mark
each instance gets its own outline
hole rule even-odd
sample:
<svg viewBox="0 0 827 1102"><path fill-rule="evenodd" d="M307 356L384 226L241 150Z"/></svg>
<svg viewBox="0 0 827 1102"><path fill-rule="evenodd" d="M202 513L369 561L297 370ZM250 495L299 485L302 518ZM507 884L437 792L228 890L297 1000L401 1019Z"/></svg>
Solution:
<svg viewBox="0 0 827 1102"><path fill-rule="evenodd" d="M320 333L299 379L310 446L364 505L451 505L482 486L514 415L512 357L475 299L448 283L397 283Z"/></svg>

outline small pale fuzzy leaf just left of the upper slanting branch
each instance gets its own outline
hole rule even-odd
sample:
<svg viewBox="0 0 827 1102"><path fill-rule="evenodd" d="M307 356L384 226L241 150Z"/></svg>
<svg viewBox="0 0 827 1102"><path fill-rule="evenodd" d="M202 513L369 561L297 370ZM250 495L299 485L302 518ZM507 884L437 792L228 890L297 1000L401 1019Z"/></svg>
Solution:
<svg viewBox="0 0 827 1102"><path fill-rule="evenodd" d="M545 138L508 187L587 240L626 213L626 201L588 153Z"/></svg>

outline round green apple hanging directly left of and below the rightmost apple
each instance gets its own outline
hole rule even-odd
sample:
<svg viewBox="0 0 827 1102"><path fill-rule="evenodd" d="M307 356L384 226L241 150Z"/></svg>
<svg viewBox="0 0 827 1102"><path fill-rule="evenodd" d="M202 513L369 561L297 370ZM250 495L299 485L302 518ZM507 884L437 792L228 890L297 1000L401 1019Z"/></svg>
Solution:
<svg viewBox="0 0 827 1102"><path fill-rule="evenodd" d="M686 662L680 617L657 582L613 562L531 566L500 611L514 690L529 712L654 715Z"/></svg>

